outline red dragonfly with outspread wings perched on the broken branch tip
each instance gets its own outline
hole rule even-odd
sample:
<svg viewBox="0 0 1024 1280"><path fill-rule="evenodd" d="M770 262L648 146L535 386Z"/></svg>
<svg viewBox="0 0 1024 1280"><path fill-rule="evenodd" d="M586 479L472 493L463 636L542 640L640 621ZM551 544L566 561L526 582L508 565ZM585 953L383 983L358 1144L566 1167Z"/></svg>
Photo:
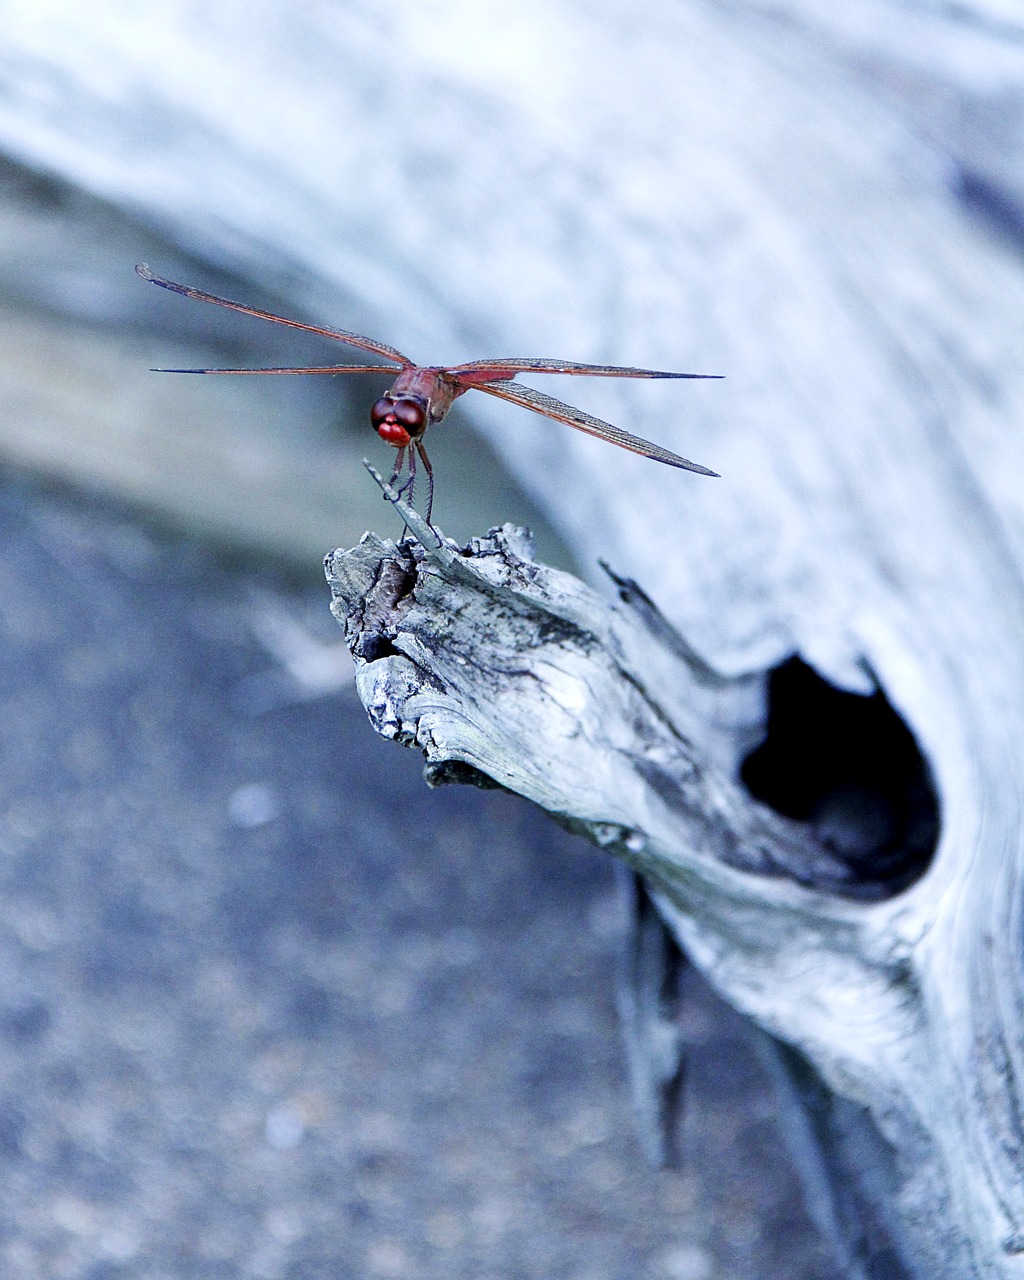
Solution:
<svg viewBox="0 0 1024 1280"><path fill-rule="evenodd" d="M677 453L662 448L660 444L652 444L650 440L641 440L637 435L630 435L611 422L603 422L599 417L584 413L582 410L563 404L544 392L534 390L532 387L520 387L513 379L518 374L572 374L590 378L721 378L721 374L669 374L657 369L623 369L618 365L580 365L571 360L472 360L467 365L454 365L443 367L440 365L417 365L401 351L389 347L384 342L374 338L364 338L357 333L348 333L346 329L325 329L320 325L302 324L300 320L285 320L284 316L274 315L271 311L260 311L256 307L243 306L241 302L229 302L228 298L219 298L212 293L204 293L201 289L189 288L187 284L175 284L173 280L164 280L155 275L148 266L140 264L136 271L143 280L159 284L161 289L172 289L187 298L198 298L200 302L212 302L219 307L230 307L232 311L241 311L247 316L256 316L260 320L273 320L275 324L288 325L291 329L303 329L306 333L317 333L324 338L334 338L349 347L360 351L369 351L374 356L387 360L387 365L324 365L302 369L161 369L157 372L165 374L397 374L390 389L384 392L370 410L370 424L378 435L388 444L398 449L394 471L390 483L394 484L408 463L408 477L398 489L399 495L408 492L412 500L412 486L416 480L416 456L424 465L428 476L428 502L426 522L430 524L430 511L434 504L434 471L430 460L424 449L422 438L431 422L440 422L448 416L448 411L460 396L467 390L486 392L488 396L497 396L499 399L509 401L512 404L521 404L531 408L536 413L575 426L577 431L586 431L596 435L602 440L617 444L622 449L632 453L641 453L645 458L655 462L666 462L671 467L681 467L684 471L696 471L704 476L717 476L717 471L709 471L698 462L689 462Z"/></svg>

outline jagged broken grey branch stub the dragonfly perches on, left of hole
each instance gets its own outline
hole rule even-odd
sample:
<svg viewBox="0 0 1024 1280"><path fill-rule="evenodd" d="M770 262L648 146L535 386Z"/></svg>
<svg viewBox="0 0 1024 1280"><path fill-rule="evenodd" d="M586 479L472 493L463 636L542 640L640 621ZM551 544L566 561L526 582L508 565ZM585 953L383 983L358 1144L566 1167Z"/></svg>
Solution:
<svg viewBox="0 0 1024 1280"><path fill-rule="evenodd" d="M663 620L650 627L649 602L636 623L625 590L625 607L608 609L534 563L525 530L495 530L463 554L397 506L424 543L370 534L328 570L378 732L527 796L666 890L675 852L648 847L684 840L719 867L877 896L716 760L735 754L750 681L709 680ZM749 733L741 721L740 740Z"/></svg>

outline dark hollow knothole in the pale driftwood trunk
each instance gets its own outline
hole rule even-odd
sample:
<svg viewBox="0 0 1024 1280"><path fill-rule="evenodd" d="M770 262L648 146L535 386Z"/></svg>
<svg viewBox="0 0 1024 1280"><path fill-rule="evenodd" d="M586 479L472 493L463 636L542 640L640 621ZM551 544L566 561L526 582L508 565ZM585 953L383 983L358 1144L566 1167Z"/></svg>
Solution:
<svg viewBox="0 0 1024 1280"><path fill-rule="evenodd" d="M938 800L914 735L882 692L836 689L790 658L768 677L768 732L744 760L751 795L812 823L861 882L906 887L931 861Z"/></svg>

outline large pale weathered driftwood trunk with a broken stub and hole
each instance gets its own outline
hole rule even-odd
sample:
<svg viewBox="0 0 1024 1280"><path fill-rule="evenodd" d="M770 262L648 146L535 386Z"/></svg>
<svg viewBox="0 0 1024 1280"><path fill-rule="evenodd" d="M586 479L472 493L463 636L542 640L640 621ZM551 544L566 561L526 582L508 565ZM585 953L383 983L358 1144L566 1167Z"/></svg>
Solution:
<svg viewBox="0 0 1024 1280"><path fill-rule="evenodd" d="M467 635L442 696L430 672L458 652L456 614L416 609L447 599L449 579L480 598L476 616L508 596L513 635L484 639L506 645L507 673L530 654L552 666L518 682L518 719L461 724L477 735L471 767L513 759L502 785L643 859L694 963L790 1046L767 1052L804 1116L790 1130L833 1236L849 1240L856 1216L844 1162L824 1155L841 1133L846 1165L876 1171L864 1196L879 1221L892 1210L908 1267L1020 1275L1019 13L998 0L649 0L625 24L616 6L570 0L472 17L457 0L224 0L197 27L179 0L147 27L105 0L15 6L0 35L8 155L296 314L428 361L515 352L728 375L685 398L608 387L579 401L717 481L466 397L580 562L603 557L643 591L623 580L628 603L609 613L530 567L507 534L468 557L429 536L422 552L365 547L353 566L390 568L370 593L361 684L392 672L412 696L426 678L415 698L433 701L415 713L396 690L380 705L398 733L430 726L440 756L456 735L438 707L465 689L493 710L494 684L481 699L470 680L503 668L493 652L471 662ZM37 247L33 236L19 243ZM47 243L49 278L15 252L19 296L157 323L155 291L131 275L142 253L79 264L68 289L68 237ZM148 239L146 255L164 265ZM439 476L442 522L457 483ZM543 637L539 617L553 620ZM406 634L420 646L406 657L370 639L402 652ZM916 774L893 765L909 780L899 838L872 846L869 810L851 817L841 787L785 820L782 783L849 726L836 717L831 741L815 731L773 765L756 744L773 717L785 739L794 689L818 677L876 709L883 695L876 719L915 744ZM593 737L573 733L580 717ZM620 792L600 772L613 759ZM434 768L466 773L465 760ZM657 973L657 952L640 946L634 969ZM671 1032L662 1041L668 1088Z"/></svg>

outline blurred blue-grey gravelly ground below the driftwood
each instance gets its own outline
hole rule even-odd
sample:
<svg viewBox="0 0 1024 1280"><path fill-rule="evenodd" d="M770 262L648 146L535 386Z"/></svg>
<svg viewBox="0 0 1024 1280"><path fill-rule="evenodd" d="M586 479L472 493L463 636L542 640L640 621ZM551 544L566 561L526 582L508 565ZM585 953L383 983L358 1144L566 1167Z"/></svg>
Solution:
<svg viewBox="0 0 1024 1280"><path fill-rule="evenodd" d="M297 699L253 627L326 586L17 479L0 529L5 1276L832 1274L696 983L644 1166L607 861Z"/></svg>

